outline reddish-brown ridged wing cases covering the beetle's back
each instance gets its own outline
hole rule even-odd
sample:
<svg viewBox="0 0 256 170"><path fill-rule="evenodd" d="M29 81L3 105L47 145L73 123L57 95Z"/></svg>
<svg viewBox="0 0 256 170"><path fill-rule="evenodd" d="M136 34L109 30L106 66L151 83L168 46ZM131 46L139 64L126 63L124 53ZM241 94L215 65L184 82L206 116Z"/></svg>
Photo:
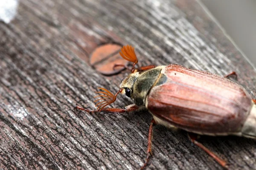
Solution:
<svg viewBox="0 0 256 170"><path fill-rule="evenodd" d="M243 135L254 104L240 85L175 64L162 67L157 81L147 94L146 108L161 121L198 134Z"/></svg>

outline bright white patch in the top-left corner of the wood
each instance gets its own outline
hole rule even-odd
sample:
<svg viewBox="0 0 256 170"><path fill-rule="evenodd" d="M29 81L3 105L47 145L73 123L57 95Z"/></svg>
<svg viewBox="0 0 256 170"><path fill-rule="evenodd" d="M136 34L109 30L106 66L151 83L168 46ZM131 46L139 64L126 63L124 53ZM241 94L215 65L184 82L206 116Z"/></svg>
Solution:
<svg viewBox="0 0 256 170"><path fill-rule="evenodd" d="M0 20L5 23L15 17L18 6L18 0L0 0Z"/></svg>

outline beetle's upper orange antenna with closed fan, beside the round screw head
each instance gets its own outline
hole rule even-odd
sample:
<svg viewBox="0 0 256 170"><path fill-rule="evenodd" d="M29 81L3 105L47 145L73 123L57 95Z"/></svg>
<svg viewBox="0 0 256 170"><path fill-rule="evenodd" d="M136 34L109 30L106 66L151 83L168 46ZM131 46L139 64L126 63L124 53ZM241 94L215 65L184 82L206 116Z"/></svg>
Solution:
<svg viewBox="0 0 256 170"><path fill-rule="evenodd" d="M134 63L131 68L131 72L133 73L134 66L138 63L138 59L135 54L134 47L131 45L123 46L123 48L121 48L121 51L119 51L119 54L123 59L126 59L126 60Z"/></svg>

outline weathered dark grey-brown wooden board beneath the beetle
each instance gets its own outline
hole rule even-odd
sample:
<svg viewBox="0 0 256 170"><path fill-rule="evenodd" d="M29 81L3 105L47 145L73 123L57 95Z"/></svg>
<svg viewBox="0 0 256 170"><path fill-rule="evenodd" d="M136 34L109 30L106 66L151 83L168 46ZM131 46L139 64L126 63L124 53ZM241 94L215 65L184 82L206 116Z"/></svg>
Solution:
<svg viewBox="0 0 256 170"><path fill-rule="evenodd" d="M256 97L256 71L192 0L20 0L0 23L0 169L139 169L151 115L87 114L97 87L115 93L125 76L88 63L105 43L134 45L140 65L177 63L225 75ZM189 80L188 80L189 81ZM131 99L119 95L112 107ZM256 142L236 136L200 141L230 162L256 169ZM184 131L154 127L148 169L222 169Z"/></svg>

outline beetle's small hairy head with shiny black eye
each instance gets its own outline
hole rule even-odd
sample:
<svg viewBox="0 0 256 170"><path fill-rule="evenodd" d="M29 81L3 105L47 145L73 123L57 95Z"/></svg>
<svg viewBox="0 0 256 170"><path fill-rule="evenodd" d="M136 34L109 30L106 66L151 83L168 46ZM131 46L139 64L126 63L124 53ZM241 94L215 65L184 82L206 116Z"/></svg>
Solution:
<svg viewBox="0 0 256 170"><path fill-rule="evenodd" d="M134 82L140 76L140 73L137 70L134 70L133 73L129 74L125 77L120 83L120 89L122 90L122 94L126 94L126 96L131 97L133 99L133 87Z"/></svg>

